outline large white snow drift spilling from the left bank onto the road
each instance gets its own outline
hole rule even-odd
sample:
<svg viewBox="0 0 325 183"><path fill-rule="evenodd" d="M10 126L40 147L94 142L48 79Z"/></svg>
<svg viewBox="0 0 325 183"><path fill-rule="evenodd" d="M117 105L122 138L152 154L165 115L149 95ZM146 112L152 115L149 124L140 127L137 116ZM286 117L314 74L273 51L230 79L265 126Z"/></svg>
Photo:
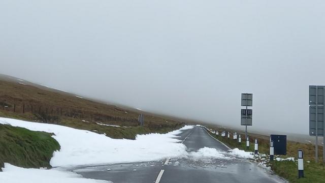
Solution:
<svg viewBox="0 0 325 183"><path fill-rule="evenodd" d="M155 161L165 158L183 157L187 155L186 146L176 143L175 139L185 126L167 134L138 135L136 140L112 139L85 130L69 127L34 123L17 119L0 117L0 124L10 124L32 131L54 133L61 149L54 152L50 164L52 166L77 166L90 164L113 164L141 161Z"/></svg>

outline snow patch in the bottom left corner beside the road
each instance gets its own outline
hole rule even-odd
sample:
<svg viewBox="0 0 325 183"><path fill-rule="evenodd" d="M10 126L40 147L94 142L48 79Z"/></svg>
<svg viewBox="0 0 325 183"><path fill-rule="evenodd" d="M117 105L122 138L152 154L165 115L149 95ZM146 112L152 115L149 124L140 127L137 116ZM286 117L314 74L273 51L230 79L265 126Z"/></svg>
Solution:
<svg viewBox="0 0 325 183"><path fill-rule="evenodd" d="M6 183L37 183L37 182L47 182L47 183L110 183L111 181L105 180L94 180L83 178L73 172L60 171L57 169L34 169L34 168L20 168L8 163L5 163L5 168L3 172L0 172L0 182Z"/></svg>

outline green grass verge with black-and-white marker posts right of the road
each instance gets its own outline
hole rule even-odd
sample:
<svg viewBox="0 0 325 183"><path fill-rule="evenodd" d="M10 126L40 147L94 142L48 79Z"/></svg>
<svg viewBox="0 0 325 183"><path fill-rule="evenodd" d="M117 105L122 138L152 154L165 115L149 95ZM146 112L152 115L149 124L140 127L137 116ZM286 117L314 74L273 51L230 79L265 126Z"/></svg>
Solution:
<svg viewBox="0 0 325 183"><path fill-rule="evenodd" d="M210 132L209 132L210 133ZM238 143L238 140L221 137L221 133L219 135L215 135L210 133L214 138L220 140L224 144L228 145L231 148L239 148L245 151L254 151L254 139L258 139L258 152L261 154L269 155L270 146L269 140L266 136L261 135L254 135L249 134L250 137L250 146L249 149L246 149L246 141L245 135L241 134L242 136L242 143ZM319 147L320 154L322 153L322 147ZM297 162L293 161L272 161L271 169L279 176L285 178L289 182L293 183L304 183L304 182L325 182L325 164L324 163L315 163L314 161L314 148L311 144L305 143L298 143L298 142L287 142L287 155L286 156L279 156L280 158L288 158L288 157L295 157L295 160L298 158L298 149L304 150L304 178L298 179L298 164ZM307 163L307 161L309 163ZM321 158L319 158L321 161Z"/></svg>

